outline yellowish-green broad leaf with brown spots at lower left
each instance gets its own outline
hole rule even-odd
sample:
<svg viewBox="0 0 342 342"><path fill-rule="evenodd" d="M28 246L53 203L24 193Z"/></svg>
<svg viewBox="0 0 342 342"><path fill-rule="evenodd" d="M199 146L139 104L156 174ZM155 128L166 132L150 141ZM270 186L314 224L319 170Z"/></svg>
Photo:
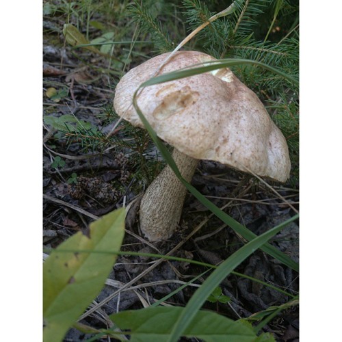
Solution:
<svg viewBox="0 0 342 342"><path fill-rule="evenodd" d="M68 328L96 298L116 261L124 237L124 208L90 224L60 244L43 267L44 341L62 341ZM73 252L62 252L72 250ZM89 250L91 252L77 252Z"/></svg>

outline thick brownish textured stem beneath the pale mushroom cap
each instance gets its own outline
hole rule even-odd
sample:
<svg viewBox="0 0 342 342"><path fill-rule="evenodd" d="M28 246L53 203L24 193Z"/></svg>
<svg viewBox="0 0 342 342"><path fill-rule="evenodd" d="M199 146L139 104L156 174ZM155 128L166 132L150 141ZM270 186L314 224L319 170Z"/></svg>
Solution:
<svg viewBox="0 0 342 342"><path fill-rule="evenodd" d="M172 158L183 178L190 182L198 159L188 157L176 148ZM181 219L186 193L187 189L168 165L151 183L140 204L140 228L150 241L166 240L174 233Z"/></svg>

